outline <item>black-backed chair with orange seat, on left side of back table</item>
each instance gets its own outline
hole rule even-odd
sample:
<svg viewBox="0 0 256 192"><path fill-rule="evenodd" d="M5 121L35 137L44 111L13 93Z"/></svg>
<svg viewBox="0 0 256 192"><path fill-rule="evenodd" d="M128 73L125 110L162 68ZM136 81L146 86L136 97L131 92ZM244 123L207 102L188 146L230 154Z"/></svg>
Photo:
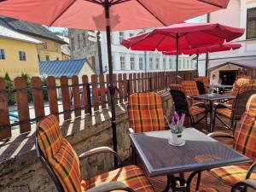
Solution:
<svg viewBox="0 0 256 192"><path fill-rule="evenodd" d="M177 113L185 113L189 117L191 125L199 123L202 119L206 119L207 122L207 106L203 102L197 102L190 104L187 96L182 90L170 90L174 107ZM203 114L201 119L195 121L195 117Z"/></svg>

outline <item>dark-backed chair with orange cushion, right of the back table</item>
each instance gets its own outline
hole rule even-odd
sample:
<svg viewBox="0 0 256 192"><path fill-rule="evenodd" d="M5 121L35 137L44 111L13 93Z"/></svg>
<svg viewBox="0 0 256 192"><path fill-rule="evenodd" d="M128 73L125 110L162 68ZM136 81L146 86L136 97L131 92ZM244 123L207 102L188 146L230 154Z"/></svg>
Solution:
<svg viewBox="0 0 256 192"><path fill-rule="evenodd" d="M234 133L236 129L236 122L241 119L241 116L246 109L247 101L253 94L256 94L256 84L245 84L241 86L240 90L238 90L236 99L233 100L231 105L222 102L215 104L213 112L213 129L215 127L216 119L218 119ZM225 123L222 118L230 119L230 125Z"/></svg>

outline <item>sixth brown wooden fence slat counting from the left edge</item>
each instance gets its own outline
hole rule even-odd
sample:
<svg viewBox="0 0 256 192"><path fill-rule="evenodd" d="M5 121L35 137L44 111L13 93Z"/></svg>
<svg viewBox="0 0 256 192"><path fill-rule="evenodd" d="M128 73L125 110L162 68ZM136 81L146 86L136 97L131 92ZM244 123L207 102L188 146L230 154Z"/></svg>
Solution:
<svg viewBox="0 0 256 192"><path fill-rule="evenodd" d="M73 91L73 108L75 117L81 116L81 102L80 102L80 93L79 93L79 77L72 77L72 91Z"/></svg>

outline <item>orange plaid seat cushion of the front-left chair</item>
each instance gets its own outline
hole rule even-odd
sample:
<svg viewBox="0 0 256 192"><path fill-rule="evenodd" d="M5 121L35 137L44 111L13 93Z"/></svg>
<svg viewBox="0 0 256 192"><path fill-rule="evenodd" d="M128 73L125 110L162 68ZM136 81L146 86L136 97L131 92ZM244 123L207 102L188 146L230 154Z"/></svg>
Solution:
<svg viewBox="0 0 256 192"><path fill-rule="evenodd" d="M82 181L83 191L96 187L102 183L119 181L125 183L137 192L154 192L148 178L144 176L142 170L137 166L124 166L112 172L103 173L96 177Z"/></svg>

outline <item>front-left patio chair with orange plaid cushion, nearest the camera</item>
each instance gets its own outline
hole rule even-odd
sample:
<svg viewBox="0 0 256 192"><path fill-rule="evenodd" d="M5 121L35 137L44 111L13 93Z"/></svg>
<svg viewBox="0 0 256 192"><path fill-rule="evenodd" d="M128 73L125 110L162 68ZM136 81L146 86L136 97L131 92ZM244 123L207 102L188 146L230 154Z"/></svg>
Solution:
<svg viewBox="0 0 256 192"><path fill-rule="evenodd" d="M121 160L118 154L108 147L93 148L78 156L67 139L62 136L58 119L52 114L38 123L36 152L59 192L154 192L148 178L137 166L120 167L112 172L83 180L79 159L109 153L118 157L119 165Z"/></svg>

